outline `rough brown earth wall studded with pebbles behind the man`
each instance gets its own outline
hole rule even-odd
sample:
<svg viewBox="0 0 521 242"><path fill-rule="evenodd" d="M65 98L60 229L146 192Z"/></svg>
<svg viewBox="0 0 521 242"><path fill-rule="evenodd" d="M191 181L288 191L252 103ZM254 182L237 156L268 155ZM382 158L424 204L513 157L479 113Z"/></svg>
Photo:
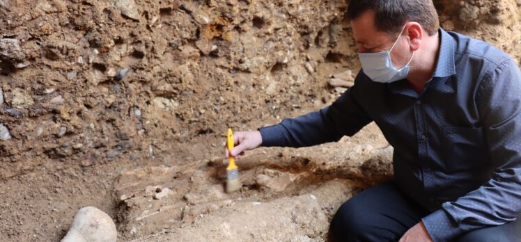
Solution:
<svg viewBox="0 0 521 242"><path fill-rule="evenodd" d="M520 60L519 1L435 2L444 28ZM1 177L42 159L153 156L320 106L332 91L322 70L358 69L345 7L3 0Z"/></svg>

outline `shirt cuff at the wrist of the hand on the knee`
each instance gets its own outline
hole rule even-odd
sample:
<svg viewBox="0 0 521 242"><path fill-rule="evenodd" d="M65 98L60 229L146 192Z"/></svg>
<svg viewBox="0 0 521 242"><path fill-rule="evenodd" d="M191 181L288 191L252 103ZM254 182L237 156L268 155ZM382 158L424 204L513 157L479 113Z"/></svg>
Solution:
<svg viewBox="0 0 521 242"><path fill-rule="evenodd" d="M430 213L421 220L434 242L451 241L462 233L456 221L449 217L443 209Z"/></svg>

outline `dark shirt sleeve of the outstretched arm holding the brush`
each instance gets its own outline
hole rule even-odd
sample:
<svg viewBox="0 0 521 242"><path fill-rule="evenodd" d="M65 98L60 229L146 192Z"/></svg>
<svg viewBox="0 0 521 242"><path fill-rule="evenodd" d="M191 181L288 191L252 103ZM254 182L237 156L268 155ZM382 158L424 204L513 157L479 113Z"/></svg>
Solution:
<svg viewBox="0 0 521 242"><path fill-rule="evenodd" d="M352 136L371 122L357 102L359 87L346 90L339 99L320 111L297 118L286 118L281 123L260 128L263 146L306 147Z"/></svg>

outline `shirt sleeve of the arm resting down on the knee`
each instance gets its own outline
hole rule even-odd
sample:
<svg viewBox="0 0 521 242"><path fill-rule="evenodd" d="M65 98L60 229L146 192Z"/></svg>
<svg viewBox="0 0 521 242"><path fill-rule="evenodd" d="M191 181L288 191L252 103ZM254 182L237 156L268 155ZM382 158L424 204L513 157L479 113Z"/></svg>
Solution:
<svg viewBox="0 0 521 242"><path fill-rule="evenodd" d="M514 221L521 211L521 72L511 59L483 76L476 92L492 178L423 218L433 241Z"/></svg>

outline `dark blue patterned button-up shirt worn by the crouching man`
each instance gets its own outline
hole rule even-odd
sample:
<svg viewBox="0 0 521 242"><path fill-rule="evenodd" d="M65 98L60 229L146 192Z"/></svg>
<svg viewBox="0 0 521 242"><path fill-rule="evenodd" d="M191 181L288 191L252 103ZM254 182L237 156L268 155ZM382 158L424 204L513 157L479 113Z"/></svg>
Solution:
<svg viewBox="0 0 521 242"><path fill-rule="evenodd" d="M260 129L263 146L304 147L352 136L374 121L394 147L394 180L430 211L434 241L515 220L521 211L521 73L507 54L440 29L433 78L359 72L331 106ZM417 56L415 58L421 58Z"/></svg>

